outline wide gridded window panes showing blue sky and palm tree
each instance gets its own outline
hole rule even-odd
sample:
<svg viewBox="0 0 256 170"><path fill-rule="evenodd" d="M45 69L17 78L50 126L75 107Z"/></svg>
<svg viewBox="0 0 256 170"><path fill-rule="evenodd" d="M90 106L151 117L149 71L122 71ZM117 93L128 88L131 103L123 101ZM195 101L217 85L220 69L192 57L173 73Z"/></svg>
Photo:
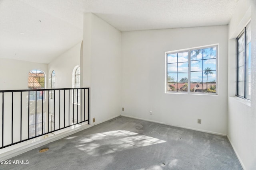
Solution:
<svg viewBox="0 0 256 170"><path fill-rule="evenodd" d="M166 92L217 94L218 46L166 52Z"/></svg>

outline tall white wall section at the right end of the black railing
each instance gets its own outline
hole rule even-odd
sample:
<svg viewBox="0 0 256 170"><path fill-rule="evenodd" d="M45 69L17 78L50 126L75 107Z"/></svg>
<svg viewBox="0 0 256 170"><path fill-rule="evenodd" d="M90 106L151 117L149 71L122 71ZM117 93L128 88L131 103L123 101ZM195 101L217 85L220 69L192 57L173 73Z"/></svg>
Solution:
<svg viewBox="0 0 256 170"><path fill-rule="evenodd" d="M90 123L95 117L97 124L120 115L120 31L94 14L84 14L83 54L83 86L90 87Z"/></svg>

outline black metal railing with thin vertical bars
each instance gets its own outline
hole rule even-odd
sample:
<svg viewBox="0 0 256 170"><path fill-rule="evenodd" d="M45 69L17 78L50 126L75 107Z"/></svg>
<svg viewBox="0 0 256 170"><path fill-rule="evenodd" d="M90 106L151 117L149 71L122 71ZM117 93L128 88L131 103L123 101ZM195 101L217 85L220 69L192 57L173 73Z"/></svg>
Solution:
<svg viewBox="0 0 256 170"><path fill-rule="evenodd" d="M0 90L0 149L89 122L89 88Z"/></svg>

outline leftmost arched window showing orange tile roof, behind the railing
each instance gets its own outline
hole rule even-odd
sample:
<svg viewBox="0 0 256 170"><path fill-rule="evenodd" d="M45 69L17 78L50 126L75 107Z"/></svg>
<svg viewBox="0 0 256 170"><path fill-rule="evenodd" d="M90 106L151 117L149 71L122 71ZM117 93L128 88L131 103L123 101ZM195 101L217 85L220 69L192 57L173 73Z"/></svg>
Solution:
<svg viewBox="0 0 256 170"><path fill-rule="evenodd" d="M41 89L45 88L45 74L41 70L31 70L28 73L28 88ZM42 99L42 91L30 92L30 100Z"/></svg>

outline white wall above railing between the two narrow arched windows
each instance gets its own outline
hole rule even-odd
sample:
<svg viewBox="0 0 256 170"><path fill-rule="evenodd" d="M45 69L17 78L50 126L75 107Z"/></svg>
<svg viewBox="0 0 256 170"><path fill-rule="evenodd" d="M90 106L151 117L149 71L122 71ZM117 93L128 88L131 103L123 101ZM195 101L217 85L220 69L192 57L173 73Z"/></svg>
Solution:
<svg viewBox="0 0 256 170"><path fill-rule="evenodd" d="M80 65L81 43L79 42L48 64L49 78L52 71L55 71L55 88L72 88L73 69Z"/></svg>

